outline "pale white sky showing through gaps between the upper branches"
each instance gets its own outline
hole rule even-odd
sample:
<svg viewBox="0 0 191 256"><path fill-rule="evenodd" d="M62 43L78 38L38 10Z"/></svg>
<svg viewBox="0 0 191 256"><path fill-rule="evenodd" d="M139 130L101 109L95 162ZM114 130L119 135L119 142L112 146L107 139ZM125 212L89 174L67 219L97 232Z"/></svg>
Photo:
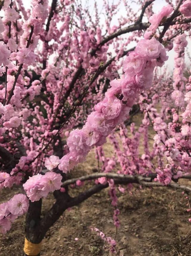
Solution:
<svg viewBox="0 0 191 256"><path fill-rule="evenodd" d="M94 5L94 1L93 0L82 0L82 4L85 4L86 3L86 1L88 1L88 4L90 5L90 10L91 10L91 8L92 8L92 10L93 10L93 5ZM110 3L114 3L114 4L117 4L118 2L119 2L119 0L108 0ZM30 8L30 0L23 0L23 4L24 4L24 7L26 7L26 8ZM51 4L51 2L52 2L52 0L49 0L49 3ZM113 20L112 20L112 22L111 22L111 25L114 25L114 24L118 24L118 18L120 18L120 16L125 16L126 15L126 11L125 11L125 8L123 7L123 4L122 4L122 2L123 1L121 1L121 3L119 4L119 8L121 8L121 10L120 10L120 12L118 13L118 15L115 15L114 17L113 17ZM131 3L131 6L132 6L132 8L134 9L134 10L137 10L137 4L135 3L136 2L136 0L135 1L132 1L132 0L129 0L128 1L129 3ZM174 4L175 4L175 0L173 0L173 2L174 2ZM166 3L166 1L165 0L155 0L154 1L154 3L153 3L153 11L155 12L155 13L158 13L158 11L162 8L162 6L164 6L164 5L166 5L167 3ZM97 0L97 7L98 7L98 10L101 12L101 10L102 10L102 5L103 5L103 0ZM93 14L93 11L92 11L92 15L94 15ZM104 22L104 16L103 16L103 22ZM144 20L143 20L144 21ZM134 45L133 45L134 46ZM131 48L132 47L132 45L130 44L129 45L129 48ZM188 48L188 50L189 50L189 52L191 52L190 51L190 49L191 49L191 40L189 39L188 40L188 46L187 46L187 48ZM171 51L169 51L168 52L168 56L169 56L169 59L167 60L167 62L166 62L166 64L165 64L165 66L167 65L168 66L168 68L171 70L171 71L173 71L173 68L174 68L174 55L175 55L175 53L174 53L174 51L173 50L171 50ZM190 60L188 59L188 57L186 57L186 59L185 59L185 61L186 61L186 64L187 65L190 65Z"/></svg>

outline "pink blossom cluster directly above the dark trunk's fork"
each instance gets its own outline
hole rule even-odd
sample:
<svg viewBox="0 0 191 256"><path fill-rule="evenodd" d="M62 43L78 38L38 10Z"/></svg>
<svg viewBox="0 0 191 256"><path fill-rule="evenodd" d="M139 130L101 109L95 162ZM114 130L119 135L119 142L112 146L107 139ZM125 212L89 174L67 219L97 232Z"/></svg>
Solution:
<svg viewBox="0 0 191 256"><path fill-rule="evenodd" d="M45 175L37 174L29 177L23 184L29 199L34 202L46 197L49 192L60 189L62 176L55 172L46 172Z"/></svg>

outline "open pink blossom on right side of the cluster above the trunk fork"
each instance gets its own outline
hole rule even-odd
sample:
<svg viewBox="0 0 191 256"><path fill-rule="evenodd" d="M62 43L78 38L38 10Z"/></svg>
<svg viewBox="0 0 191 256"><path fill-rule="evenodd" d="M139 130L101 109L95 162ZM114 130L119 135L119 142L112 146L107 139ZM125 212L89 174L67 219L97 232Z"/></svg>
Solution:
<svg viewBox="0 0 191 256"><path fill-rule="evenodd" d="M44 186L43 190L47 192L53 192L60 189L62 185L62 176L60 173L46 172L41 179L41 184Z"/></svg>

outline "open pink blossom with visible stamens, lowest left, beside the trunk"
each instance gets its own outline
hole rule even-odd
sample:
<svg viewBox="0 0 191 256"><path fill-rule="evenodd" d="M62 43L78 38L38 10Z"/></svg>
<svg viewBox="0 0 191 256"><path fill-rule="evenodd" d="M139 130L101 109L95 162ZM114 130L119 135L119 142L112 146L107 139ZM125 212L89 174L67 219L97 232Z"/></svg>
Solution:
<svg viewBox="0 0 191 256"><path fill-rule="evenodd" d="M29 199L24 194L17 194L9 200L8 205L10 213L21 216L28 210Z"/></svg>

